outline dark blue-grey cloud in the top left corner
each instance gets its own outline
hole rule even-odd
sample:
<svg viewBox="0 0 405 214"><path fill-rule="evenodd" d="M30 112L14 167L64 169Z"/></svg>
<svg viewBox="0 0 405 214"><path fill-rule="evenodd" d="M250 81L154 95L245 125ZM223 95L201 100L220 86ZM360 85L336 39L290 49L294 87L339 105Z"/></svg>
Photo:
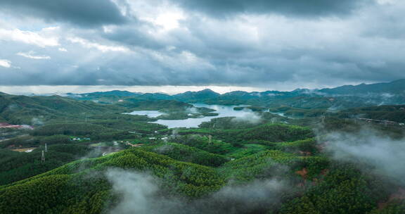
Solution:
<svg viewBox="0 0 405 214"><path fill-rule="evenodd" d="M82 26L121 24L126 19L110 0L1 0L0 11Z"/></svg>

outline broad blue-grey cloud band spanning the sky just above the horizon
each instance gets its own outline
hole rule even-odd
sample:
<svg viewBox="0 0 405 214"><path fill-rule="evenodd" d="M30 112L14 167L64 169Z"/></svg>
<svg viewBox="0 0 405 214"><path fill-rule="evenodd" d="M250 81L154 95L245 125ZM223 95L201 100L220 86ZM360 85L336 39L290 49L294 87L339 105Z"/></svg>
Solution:
<svg viewBox="0 0 405 214"><path fill-rule="evenodd" d="M69 48L68 48L69 49ZM69 50L71 50L70 48ZM79 54L78 50L72 55ZM41 53L41 52L38 52ZM266 86L279 82L313 82L344 84L359 81L390 81L404 77L404 64L385 63L383 67L360 65L355 61L321 61L307 58L297 61L281 57L240 59L224 63L212 62L213 66L201 64L190 68L156 61L152 57L134 56L127 53L103 53L103 58L80 63L76 58L56 56L50 60L25 61L19 56L6 56L13 65L23 69L1 68L0 85L240 85ZM69 54L66 53L66 54ZM91 55L90 53L86 53ZM166 53L172 59L181 61L176 53ZM92 57L90 57L92 58ZM68 61L67 61L68 60ZM63 63L59 63L63 61ZM75 65L75 61L80 66ZM25 68L25 69L24 69ZM27 69L30 68L30 69ZM333 82L330 82L333 80ZM300 87L300 85L297 85ZM302 87L302 86L301 86Z"/></svg>

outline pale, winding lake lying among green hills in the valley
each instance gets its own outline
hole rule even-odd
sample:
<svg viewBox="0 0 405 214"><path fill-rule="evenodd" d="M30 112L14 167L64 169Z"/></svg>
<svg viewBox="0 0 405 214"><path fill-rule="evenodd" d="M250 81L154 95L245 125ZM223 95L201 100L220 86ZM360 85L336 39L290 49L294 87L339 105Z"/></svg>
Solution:
<svg viewBox="0 0 405 214"><path fill-rule="evenodd" d="M204 117L204 118L188 118L186 120L157 120L153 123L158 123L161 125L167 125L169 128L176 128L176 127L198 127L201 122L208 122L213 118L224 118L224 117L237 117L237 118L257 118L257 115L250 110L243 110L243 111L234 111L233 107L236 106L222 106L222 105L207 105L203 103L193 103L195 107L206 107L214 109L214 113L218 113L217 116L211 117ZM160 111L133 111L129 113L131 115L148 115L150 118L158 117L159 115L163 115Z"/></svg>

